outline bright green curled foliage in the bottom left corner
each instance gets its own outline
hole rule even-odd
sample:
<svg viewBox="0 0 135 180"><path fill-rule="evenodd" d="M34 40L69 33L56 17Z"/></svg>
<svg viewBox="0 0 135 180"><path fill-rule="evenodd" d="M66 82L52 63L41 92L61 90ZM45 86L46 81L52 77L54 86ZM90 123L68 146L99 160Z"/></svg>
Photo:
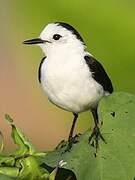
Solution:
<svg viewBox="0 0 135 180"><path fill-rule="evenodd" d="M18 149L10 155L0 155L0 179L49 179L48 171L40 166L41 162L39 160L39 157L44 157L45 153L35 151L9 115L5 115L5 119L12 127L12 139Z"/></svg>

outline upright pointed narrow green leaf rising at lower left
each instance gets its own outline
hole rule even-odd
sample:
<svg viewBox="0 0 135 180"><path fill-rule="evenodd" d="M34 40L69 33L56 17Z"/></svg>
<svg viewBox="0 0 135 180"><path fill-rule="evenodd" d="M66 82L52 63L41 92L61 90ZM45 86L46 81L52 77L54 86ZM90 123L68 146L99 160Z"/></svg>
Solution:
<svg viewBox="0 0 135 180"><path fill-rule="evenodd" d="M14 143L18 146L18 149L12 155L15 157L20 157L24 155L32 155L35 153L35 149L30 144L26 136L22 133L22 131L16 127L13 119L7 114L5 115L5 119L12 127L12 138Z"/></svg>

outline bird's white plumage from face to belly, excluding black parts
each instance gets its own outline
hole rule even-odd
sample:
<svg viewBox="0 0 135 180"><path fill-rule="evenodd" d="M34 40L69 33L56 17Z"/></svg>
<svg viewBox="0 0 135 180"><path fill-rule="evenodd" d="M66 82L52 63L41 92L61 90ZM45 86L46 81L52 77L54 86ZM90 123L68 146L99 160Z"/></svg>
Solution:
<svg viewBox="0 0 135 180"><path fill-rule="evenodd" d="M49 24L40 38L52 42L53 34L61 34L63 38L40 44L47 56L41 66L41 85L49 100L74 113L96 106L104 91L92 78L84 60L89 53L74 34L57 24Z"/></svg>

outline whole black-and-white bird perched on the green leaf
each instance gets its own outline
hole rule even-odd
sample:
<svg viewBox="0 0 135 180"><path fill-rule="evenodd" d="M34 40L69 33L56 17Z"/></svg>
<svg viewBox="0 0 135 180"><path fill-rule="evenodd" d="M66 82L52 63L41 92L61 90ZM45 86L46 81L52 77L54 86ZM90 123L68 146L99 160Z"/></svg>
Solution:
<svg viewBox="0 0 135 180"><path fill-rule="evenodd" d="M80 33L65 22L49 23L38 38L23 43L41 47L45 56L39 65L39 83L51 103L73 114L67 149L72 147L77 118L85 111L93 115L94 128L89 142L93 143L94 138L97 149L100 138L105 142L99 127L98 104L113 92L102 64L87 51Z"/></svg>

